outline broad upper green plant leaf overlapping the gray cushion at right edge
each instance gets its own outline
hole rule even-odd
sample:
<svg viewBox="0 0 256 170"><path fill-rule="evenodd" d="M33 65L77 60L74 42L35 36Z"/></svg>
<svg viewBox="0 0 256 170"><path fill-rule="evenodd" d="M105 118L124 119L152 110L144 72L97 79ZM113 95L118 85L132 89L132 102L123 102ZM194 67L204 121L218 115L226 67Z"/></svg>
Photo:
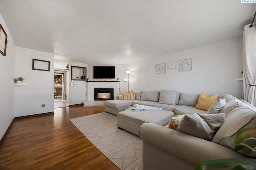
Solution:
<svg viewBox="0 0 256 170"><path fill-rule="evenodd" d="M245 139L255 137L255 136L256 136L256 127L241 129L236 134L235 146L239 145Z"/></svg>

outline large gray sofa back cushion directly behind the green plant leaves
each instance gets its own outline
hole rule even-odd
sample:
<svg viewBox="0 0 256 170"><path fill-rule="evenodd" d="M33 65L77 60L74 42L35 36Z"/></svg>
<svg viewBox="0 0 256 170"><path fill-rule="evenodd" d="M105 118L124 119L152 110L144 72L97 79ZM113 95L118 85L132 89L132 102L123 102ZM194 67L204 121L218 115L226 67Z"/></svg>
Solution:
<svg viewBox="0 0 256 170"><path fill-rule="evenodd" d="M255 127L255 125L256 110L252 109L252 107L250 106L236 108L226 116L225 122L212 139L212 142L234 149L234 142L220 142L233 139L236 137L236 133L240 129L244 129L247 127ZM253 144L256 145L256 141L254 140L253 142ZM250 150L248 150L247 148L243 148L238 152L250 155Z"/></svg>

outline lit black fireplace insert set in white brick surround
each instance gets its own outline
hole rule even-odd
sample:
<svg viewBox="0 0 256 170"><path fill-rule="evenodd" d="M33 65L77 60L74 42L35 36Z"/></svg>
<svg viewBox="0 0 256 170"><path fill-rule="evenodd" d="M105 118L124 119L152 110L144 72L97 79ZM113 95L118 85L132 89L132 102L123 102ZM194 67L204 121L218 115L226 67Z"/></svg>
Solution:
<svg viewBox="0 0 256 170"><path fill-rule="evenodd" d="M94 88L94 100L114 100L114 88Z"/></svg>

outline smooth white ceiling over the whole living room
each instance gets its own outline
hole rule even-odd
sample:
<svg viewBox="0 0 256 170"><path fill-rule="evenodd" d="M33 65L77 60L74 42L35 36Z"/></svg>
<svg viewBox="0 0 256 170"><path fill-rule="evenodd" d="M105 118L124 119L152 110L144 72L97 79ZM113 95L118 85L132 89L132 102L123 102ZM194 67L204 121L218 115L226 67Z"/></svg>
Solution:
<svg viewBox="0 0 256 170"><path fill-rule="evenodd" d="M255 10L240 0L0 1L16 46L88 64L127 64L242 37Z"/></svg>

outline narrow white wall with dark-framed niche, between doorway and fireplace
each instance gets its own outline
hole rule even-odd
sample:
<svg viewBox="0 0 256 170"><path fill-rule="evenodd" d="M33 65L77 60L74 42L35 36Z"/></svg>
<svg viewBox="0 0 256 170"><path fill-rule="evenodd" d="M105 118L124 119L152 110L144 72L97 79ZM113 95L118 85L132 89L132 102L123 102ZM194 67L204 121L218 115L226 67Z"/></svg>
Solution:
<svg viewBox="0 0 256 170"><path fill-rule="evenodd" d="M75 105L75 104L82 104L84 101L87 100L86 93L86 81L82 80L73 80L76 86L70 86L72 83L71 80L71 66L79 66L79 67L88 67L88 64L83 63L76 63L76 62L69 62L69 70L67 72L67 104ZM82 75L80 75L82 76ZM79 77L80 78L80 77ZM72 98L72 100L71 100Z"/></svg>

